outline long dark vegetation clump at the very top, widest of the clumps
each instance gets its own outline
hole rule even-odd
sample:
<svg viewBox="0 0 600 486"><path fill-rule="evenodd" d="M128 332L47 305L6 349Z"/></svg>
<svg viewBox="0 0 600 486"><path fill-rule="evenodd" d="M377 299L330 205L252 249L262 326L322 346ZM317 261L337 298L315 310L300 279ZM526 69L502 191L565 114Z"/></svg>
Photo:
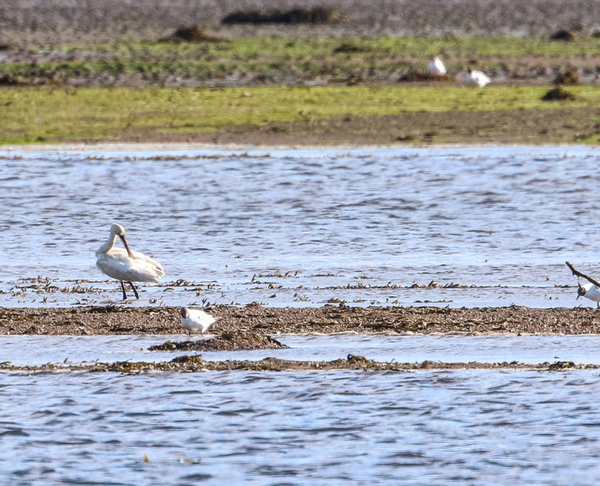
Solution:
<svg viewBox="0 0 600 486"><path fill-rule="evenodd" d="M288 11L235 11L229 13L222 23L341 23L342 13L333 7L307 7Z"/></svg>

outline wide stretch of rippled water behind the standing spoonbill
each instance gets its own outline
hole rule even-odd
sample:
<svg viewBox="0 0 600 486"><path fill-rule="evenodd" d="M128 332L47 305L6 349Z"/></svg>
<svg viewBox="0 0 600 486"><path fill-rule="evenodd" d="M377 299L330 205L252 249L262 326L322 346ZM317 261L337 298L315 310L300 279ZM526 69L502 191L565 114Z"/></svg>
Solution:
<svg viewBox="0 0 600 486"><path fill-rule="evenodd" d="M593 305L564 261L599 274L598 148L0 156L2 306L119 301L113 221L167 272L132 305Z"/></svg>

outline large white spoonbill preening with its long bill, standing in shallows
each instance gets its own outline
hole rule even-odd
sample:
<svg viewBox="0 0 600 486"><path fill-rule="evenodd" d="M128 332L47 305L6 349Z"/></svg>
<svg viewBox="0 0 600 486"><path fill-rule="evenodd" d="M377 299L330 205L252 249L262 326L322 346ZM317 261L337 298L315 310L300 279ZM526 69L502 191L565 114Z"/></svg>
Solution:
<svg viewBox="0 0 600 486"><path fill-rule="evenodd" d="M121 239L125 248L115 248L114 242L116 237ZM138 296L138 291L133 286L133 282L144 282L145 284L158 284L158 279L165 274L163 267L158 261L154 261L150 257L140 252L132 252L129 249L129 244L125 239L125 228L121 225L113 223L111 225L111 234L109 239L102 244L102 247L96 250L96 266L113 279L121 282L123 290L123 300L127 298L125 293L126 281L133 293Z"/></svg>

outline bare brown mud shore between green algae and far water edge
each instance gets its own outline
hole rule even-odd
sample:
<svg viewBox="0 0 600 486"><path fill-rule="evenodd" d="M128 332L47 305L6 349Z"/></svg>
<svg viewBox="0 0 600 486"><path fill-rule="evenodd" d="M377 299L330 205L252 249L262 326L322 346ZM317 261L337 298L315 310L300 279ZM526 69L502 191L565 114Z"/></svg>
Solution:
<svg viewBox="0 0 600 486"><path fill-rule="evenodd" d="M120 141L247 146L573 144L600 141L600 108L421 112L243 124L214 133L127 131Z"/></svg>

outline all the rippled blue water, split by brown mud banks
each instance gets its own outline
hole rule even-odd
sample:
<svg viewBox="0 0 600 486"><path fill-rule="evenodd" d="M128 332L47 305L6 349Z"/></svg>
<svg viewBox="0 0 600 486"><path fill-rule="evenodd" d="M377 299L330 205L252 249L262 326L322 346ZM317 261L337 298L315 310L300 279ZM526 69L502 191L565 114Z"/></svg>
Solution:
<svg viewBox="0 0 600 486"><path fill-rule="evenodd" d="M127 305L589 306L574 301L564 261L599 270L597 148L0 157L0 306L119 301L94 266L113 221L167 271ZM169 360L180 353L143 352L168 338L3 337L0 360ZM292 349L203 356L600 355L596 336L280 338ZM11 485L587 485L600 476L599 377L1 373L0 475Z"/></svg>

